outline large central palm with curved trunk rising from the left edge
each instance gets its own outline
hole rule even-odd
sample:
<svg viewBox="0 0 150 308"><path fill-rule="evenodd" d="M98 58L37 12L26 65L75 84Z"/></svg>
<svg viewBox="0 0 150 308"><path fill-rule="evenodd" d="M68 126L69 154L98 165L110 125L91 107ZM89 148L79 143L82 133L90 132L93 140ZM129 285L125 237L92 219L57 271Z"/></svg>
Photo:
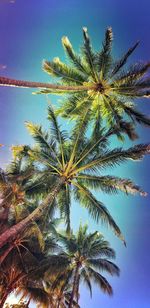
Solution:
<svg viewBox="0 0 150 308"><path fill-rule="evenodd" d="M49 107L48 118L51 123L50 134L45 133L41 126L26 123L34 137L36 145L28 148L28 155L39 166L41 182L48 189L44 201L33 212L18 224L6 230L0 236L0 247L8 240L15 238L18 232L23 231L29 223L42 217L56 199L61 215L64 216L68 232L70 231L71 195L89 211L97 221L108 224L123 241L123 236L114 219L104 204L96 199L90 189L101 190L107 193L116 193L119 190L125 193L146 193L129 179L116 176L103 176L101 171L107 167L115 167L129 159L137 161L149 154L149 145L136 145L127 150L115 148L110 150L108 141L116 130L105 131L96 126L91 137L86 136L88 111L82 121L77 122L72 134L67 137L62 132L55 112ZM43 176L42 176L43 173Z"/></svg>

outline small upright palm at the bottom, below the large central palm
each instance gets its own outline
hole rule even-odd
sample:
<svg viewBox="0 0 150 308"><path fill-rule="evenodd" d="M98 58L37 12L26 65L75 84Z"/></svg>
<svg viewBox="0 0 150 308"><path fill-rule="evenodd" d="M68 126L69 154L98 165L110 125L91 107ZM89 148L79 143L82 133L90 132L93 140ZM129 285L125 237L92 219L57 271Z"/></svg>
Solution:
<svg viewBox="0 0 150 308"><path fill-rule="evenodd" d="M76 235L60 234L60 241L64 247L64 256L68 259L68 266L57 276L53 288L59 285L62 279L72 284L72 291L68 307L73 307L73 300L79 297L79 285L83 281L92 296L91 282L100 289L112 295L113 290L106 278L101 274L106 271L110 275L119 275L119 268L108 259L115 258L115 251L99 232L87 233L87 225L79 227Z"/></svg>

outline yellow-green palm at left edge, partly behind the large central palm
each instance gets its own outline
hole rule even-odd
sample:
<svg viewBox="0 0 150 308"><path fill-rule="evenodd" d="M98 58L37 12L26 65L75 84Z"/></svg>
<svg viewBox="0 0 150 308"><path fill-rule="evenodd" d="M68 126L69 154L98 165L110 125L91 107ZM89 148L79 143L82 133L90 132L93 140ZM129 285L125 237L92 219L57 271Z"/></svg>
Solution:
<svg viewBox="0 0 150 308"><path fill-rule="evenodd" d="M47 190L41 182L40 171L26 157L22 157L22 146L13 146L13 161L6 170L0 169L0 234L8 232L15 225L28 216L45 197ZM51 206L47 216L52 218L54 206ZM45 222L43 219L43 223ZM32 223L32 225L35 225ZM17 240L17 238L16 238ZM18 240L17 240L18 241ZM16 246L16 242L9 243L7 251L0 255L0 263L7 253ZM1 251L2 252L2 251Z"/></svg>

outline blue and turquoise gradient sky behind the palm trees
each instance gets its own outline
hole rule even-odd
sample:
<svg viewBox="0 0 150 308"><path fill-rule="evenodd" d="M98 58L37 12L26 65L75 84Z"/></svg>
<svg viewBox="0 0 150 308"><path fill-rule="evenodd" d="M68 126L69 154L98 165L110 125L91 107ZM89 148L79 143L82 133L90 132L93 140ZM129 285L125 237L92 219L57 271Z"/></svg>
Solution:
<svg viewBox="0 0 150 308"><path fill-rule="evenodd" d="M135 0L0 0L0 75L14 78L49 81L42 72L43 59L59 56L65 60L61 37L67 35L76 50L82 42L81 28L87 26L93 46L100 48L107 26L114 31L113 51L122 55L135 41L141 44L131 61L150 59L150 1ZM5 67L6 66L6 67ZM0 165L10 159L12 144L32 142L24 121L41 123L45 127L47 102L44 96L31 94L30 89L0 88ZM56 97L51 101L58 103ZM137 101L139 109L150 114L150 101ZM68 125L68 122L65 123ZM139 142L149 141L149 130L138 129ZM127 142L125 146L130 145ZM116 146L118 142L116 141ZM132 178L144 190L149 191L149 157L141 163L130 162L114 170L114 174ZM107 170L106 173L108 173ZM73 204L72 223L77 229L82 222L89 222L90 230L103 231L106 239L116 250L116 263L121 268L120 278L109 281L114 288L112 298L93 288L93 299L82 286L80 304L82 308L149 308L150 307L150 202L138 196L107 196L101 200L122 229L127 248L113 235L111 230L96 225L86 211ZM32 306L35 307L35 306Z"/></svg>

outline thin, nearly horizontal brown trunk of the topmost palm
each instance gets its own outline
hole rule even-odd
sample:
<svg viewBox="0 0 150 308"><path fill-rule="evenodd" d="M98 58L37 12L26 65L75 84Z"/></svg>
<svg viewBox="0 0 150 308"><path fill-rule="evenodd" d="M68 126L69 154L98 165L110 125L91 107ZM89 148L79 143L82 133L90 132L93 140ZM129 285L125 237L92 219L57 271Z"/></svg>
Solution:
<svg viewBox="0 0 150 308"><path fill-rule="evenodd" d="M44 89L52 89L52 90L62 90L62 91L87 91L91 89L89 86L65 86L44 82L34 82L27 80L16 80L12 78L7 78L0 76L0 86L8 86L8 87L20 87L20 88L44 88Z"/></svg>

